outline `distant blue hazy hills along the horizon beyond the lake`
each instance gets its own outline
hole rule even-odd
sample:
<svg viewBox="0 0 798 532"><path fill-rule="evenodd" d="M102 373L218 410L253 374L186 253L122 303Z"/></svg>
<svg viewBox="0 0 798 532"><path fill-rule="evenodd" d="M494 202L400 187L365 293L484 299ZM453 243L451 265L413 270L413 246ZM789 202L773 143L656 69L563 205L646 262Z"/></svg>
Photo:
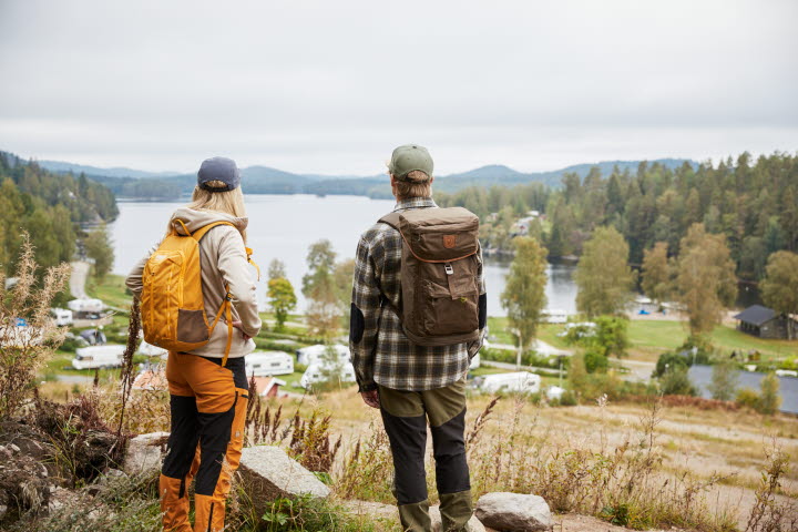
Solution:
<svg viewBox="0 0 798 532"><path fill-rule="evenodd" d="M697 163L685 158L661 158L651 161L668 168L684 163L696 166ZM132 168L100 168L63 162L42 161L42 167L58 173L85 173L116 195L122 197L173 200L191 194L196 175L170 174L168 172L144 172ZM469 186L513 186L528 183L542 183L559 187L562 176L575 173L580 177L587 175L591 168L597 167L602 175L608 175L614 167L621 172L635 172L641 161L606 161L595 164L577 164L550 172L523 173L508 166L494 164L468 172L438 176L436 187L442 192L457 192ZM247 166L242 170L244 190L250 194L350 194L369 197L390 197L386 187L388 177L377 176L336 176L316 174L295 174L268 166Z"/></svg>

